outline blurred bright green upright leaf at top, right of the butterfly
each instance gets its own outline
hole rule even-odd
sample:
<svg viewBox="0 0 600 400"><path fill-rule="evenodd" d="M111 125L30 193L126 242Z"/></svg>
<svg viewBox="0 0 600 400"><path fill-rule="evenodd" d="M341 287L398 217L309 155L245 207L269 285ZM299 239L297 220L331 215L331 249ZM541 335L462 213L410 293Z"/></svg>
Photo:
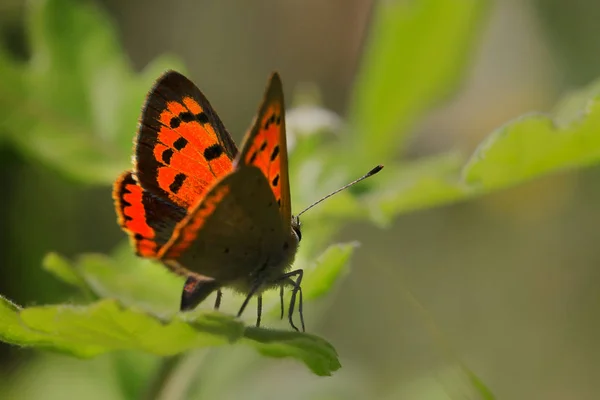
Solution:
<svg viewBox="0 0 600 400"><path fill-rule="evenodd" d="M455 88L487 4L377 2L348 113L354 165L392 159L417 119Z"/></svg>

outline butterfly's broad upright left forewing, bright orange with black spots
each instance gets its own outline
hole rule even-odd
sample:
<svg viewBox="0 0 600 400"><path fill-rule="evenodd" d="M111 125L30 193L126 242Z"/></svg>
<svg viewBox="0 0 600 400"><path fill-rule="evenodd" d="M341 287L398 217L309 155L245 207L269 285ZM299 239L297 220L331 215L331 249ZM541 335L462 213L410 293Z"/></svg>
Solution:
<svg viewBox="0 0 600 400"><path fill-rule="evenodd" d="M200 89L168 71L155 83L142 111L134 175L155 196L191 209L232 170L237 148Z"/></svg>

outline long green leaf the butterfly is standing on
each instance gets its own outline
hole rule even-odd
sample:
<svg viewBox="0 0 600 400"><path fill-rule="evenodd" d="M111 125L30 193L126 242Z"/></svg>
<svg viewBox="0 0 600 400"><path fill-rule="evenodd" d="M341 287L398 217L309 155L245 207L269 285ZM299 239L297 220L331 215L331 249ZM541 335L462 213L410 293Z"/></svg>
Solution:
<svg viewBox="0 0 600 400"><path fill-rule="evenodd" d="M339 368L333 347L316 336L298 332L244 328L222 313L178 314L164 321L124 308L115 300L89 306L41 306L19 309L0 298L0 338L20 346L37 346L92 357L117 350L170 356L191 349L240 341L271 357L303 361L314 373Z"/></svg>

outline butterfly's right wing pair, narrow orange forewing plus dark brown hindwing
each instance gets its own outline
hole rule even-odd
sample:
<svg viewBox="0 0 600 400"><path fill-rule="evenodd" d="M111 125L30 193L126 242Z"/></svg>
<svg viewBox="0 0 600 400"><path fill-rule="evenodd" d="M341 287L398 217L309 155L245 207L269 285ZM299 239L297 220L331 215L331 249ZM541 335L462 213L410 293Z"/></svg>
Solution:
<svg viewBox="0 0 600 400"><path fill-rule="evenodd" d="M160 257L247 291L287 268L292 235L281 80L274 74L234 171L176 227ZM241 287L240 287L241 286Z"/></svg>

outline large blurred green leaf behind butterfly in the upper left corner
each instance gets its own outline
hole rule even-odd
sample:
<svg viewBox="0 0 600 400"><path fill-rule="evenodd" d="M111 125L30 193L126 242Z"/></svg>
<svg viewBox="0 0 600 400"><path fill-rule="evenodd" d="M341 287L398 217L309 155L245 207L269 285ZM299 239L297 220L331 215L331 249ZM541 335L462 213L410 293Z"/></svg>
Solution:
<svg viewBox="0 0 600 400"><path fill-rule="evenodd" d="M160 72L179 63L164 57L134 74L109 19L89 2L32 0L26 28L28 62L20 65L0 48L0 125L51 168L111 183L130 168L144 95Z"/></svg>

